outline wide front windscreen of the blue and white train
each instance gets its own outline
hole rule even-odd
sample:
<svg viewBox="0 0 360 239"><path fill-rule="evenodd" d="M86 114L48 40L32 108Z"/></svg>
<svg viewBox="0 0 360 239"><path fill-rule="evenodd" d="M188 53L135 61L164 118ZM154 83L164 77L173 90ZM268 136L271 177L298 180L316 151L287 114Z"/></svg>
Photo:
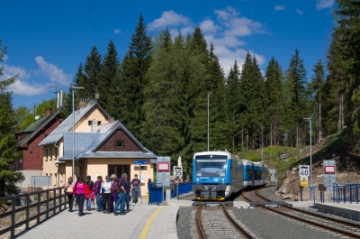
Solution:
<svg viewBox="0 0 360 239"><path fill-rule="evenodd" d="M196 176L225 177L226 160L196 159Z"/></svg>

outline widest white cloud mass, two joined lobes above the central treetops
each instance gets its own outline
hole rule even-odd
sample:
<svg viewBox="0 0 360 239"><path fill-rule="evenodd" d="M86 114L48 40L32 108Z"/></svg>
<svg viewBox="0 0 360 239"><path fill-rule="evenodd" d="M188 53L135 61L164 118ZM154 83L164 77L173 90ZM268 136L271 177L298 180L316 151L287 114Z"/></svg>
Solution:
<svg viewBox="0 0 360 239"><path fill-rule="evenodd" d="M267 32L262 23L239 16L240 14L233 7L215 10L213 13L216 14L216 20L203 20L199 27L202 29L208 48L210 48L211 42L214 45L214 52L219 57L220 66L225 75L228 75L229 69L234 65L235 60L238 61L241 70L246 59L247 50L241 47L246 45L247 42L243 41L241 37ZM169 11L164 12L161 18L149 23L148 29L150 31L162 30L167 26L171 36L174 38L178 32L181 32L183 36L193 33L195 25L197 23L193 23L184 15ZM259 66L265 63L262 55L251 50L249 52L251 56L256 56Z"/></svg>

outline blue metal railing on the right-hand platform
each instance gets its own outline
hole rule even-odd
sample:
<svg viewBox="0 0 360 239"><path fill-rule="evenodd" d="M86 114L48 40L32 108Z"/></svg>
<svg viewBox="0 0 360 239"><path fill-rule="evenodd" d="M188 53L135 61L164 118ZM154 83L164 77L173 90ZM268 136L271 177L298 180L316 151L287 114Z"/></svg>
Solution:
<svg viewBox="0 0 360 239"><path fill-rule="evenodd" d="M311 201L320 203L359 203L360 184L338 185L334 183L332 190L320 191L318 186L311 186Z"/></svg>

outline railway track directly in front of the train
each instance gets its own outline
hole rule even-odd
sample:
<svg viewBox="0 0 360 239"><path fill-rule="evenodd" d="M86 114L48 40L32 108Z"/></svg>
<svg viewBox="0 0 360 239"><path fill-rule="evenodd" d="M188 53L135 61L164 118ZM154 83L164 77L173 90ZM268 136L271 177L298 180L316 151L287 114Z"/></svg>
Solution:
<svg viewBox="0 0 360 239"><path fill-rule="evenodd" d="M219 207L204 208L198 206L195 220L199 237L211 238L251 238L257 236L249 232L247 227L236 221L225 205Z"/></svg>

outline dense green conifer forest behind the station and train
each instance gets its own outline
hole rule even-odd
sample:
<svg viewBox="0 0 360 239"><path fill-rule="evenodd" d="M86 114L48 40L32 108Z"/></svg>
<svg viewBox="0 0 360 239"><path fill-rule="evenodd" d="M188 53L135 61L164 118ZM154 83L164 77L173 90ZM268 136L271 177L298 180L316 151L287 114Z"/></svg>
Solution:
<svg viewBox="0 0 360 239"><path fill-rule="evenodd" d="M244 64L238 66L235 61L225 76L212 43L207 49L199 27L185 36L172 36L166 29L151 38L140 15L122 60L110 41L103 56L94 46L79 63L72 85L85 89L76 91L76 105L98 93L97 102L108 115L119 119L157 155L171 156L173 161L181 156L189 174L193 153L208 147L208 115L210 150L237 154L269 145L300 147L310 143L305 118L311 118L312 142L346 129L351 148L359 151L360 3L336 2L337 26L327 62L319 60L312 69L305 69L301 52L294 49L286 68L273 57L264 74L257 58L247 52ZM309 70L311 78L307 78ZM1 121L4 135L14 135L34 121L29 108L11 107L6 87L15 78L1 82L0 94L6 100L0 102L0 112L13 115L6 122L14 125ZM72 112L70 89L64 96L65 117ZM55 110L55 105L53 99L44 100L36 115L47 107ZM7 143L6 149L15 144ZM0 161L9 158L4 156L6 149L0 148ZM6 165L21 159L14 155L2 163L0 182Z"/></svg>

